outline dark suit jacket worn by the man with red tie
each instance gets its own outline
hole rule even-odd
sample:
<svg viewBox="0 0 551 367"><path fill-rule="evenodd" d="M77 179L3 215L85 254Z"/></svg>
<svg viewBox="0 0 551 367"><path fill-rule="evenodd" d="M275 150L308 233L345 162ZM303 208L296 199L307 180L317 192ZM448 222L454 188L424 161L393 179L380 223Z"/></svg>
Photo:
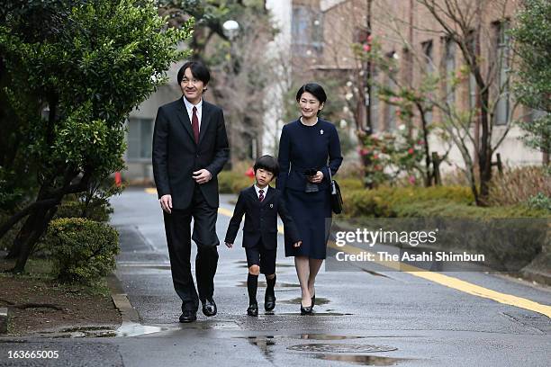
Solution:
<svg viewBox="0 0 551 367"><path fill-rule="evenodd" d="M186 209L194 194L193 172L207 169L212 180L201 191L212 208L219 205L218 175L228 160L230 148L220 107L203 100L199 144L182 98L158 108L153 132L153 175L158 197L172 195L175 209Z"/></svg>

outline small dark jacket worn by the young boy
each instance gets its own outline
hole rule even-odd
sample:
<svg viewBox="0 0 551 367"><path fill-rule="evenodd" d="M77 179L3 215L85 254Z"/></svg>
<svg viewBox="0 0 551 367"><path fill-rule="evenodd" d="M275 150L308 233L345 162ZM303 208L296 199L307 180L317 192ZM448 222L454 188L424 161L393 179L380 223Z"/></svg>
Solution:
<svg viewBox="0 0 551 367"><path fill-rule="evenodd" d="M277 247L277 214L281 217L285 226L285 237L292 243L301 240L293 218L285 208L283 194L272 187L268 187L265 199L260 202L254 186L250 186L239 192L238 202L233 210L230 225L226 232L225 242L232 244L235 241L243 214L245 225L243 226L243 247L256 246L262 238L266 248Z"/></svg>

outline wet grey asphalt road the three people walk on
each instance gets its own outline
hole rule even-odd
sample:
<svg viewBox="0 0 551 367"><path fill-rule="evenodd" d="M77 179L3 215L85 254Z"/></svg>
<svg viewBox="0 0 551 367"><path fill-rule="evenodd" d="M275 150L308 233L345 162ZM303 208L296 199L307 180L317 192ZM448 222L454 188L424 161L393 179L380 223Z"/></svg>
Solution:
<svg viewBox="0 0 551 367"><path fill-rule="evenodd" d="M232 195L221 208L232 210ZM214 299L218 315L201 312L179 324L162 215L154 194L129 189L113 198L112 224L121 233L117 277L138 311L137 335L110 338L0 340L0 365L246 366L398 365L547 366L549 318L430 282L409 273L321 269L315 315L299 314L300 290L282 240L277 258L276 309L246 314L247 265L240 234L219 247ZM224 210L225 209L225 210ZM229 222L219 213L218 236ZM194 256L195 252L192 254ZM193 258L193 257L192 257ZM194 262L192 261L192 264ZM549 305L551 291L486 273L450 273L494 291ZM262 275L259 278L262 279ZM258 300L263 300L260 282ZM139 335L141 332L150 334ZM8 350L59 350L58 360L15 361Z"/></svg>

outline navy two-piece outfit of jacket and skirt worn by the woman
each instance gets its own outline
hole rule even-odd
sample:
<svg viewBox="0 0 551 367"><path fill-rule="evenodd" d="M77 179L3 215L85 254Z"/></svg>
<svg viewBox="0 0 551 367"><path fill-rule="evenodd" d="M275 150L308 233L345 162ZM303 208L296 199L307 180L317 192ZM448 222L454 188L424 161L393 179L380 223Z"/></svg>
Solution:
<svg viewBox="0 0 551 367"><path fill-rule="evenodd" d="M335 175L342 163L339 134L335 125L318 119L313 126L299 120L286 124L279 140L280 174L276 188L284 192L287 210L294 219L303 245L295 248L285 236L285 256L325 259L330 235L331 206L329 169ZM306 192L304 171L323 173L318 192Z"/></svg>

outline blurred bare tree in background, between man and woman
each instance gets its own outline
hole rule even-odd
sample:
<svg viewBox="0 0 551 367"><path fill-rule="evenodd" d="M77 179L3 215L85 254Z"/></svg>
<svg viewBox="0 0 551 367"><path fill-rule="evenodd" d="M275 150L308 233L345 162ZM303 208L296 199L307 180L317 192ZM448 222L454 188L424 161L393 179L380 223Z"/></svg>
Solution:
<svg viewBox="0 0 551 367"><path fill-rule="evenodd" d="M250 157L250 142L257 141L259 155L266 106L266 88L273 87L276 66L267 57L272 26L264 0L161 0L159 13L170 16L178 27L190 16L196 20L189 42L193 58L212 70L209 94L224 109L230 139L230 164ZM231 38L224 31L226 21L236 21Z"/></svg>

